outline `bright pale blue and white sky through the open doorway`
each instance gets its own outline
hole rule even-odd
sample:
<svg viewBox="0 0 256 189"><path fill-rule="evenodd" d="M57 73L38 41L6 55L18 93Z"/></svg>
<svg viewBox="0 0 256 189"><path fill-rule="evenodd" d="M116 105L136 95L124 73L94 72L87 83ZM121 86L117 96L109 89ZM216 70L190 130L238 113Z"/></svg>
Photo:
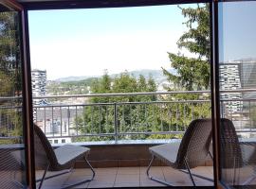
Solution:
<svg viewBox="0 0 256 189"><path fill-rule="evenodd" d="M31 66L46 70L47 79L170 68L167 52L180 51L184 21L176 5L31 10Z"/></svg>

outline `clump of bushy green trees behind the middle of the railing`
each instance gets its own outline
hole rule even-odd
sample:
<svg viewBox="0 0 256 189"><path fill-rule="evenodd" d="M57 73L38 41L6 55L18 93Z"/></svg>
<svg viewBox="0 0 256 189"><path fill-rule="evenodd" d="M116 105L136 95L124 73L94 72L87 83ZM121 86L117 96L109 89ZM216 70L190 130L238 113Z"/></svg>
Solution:
<svg viewBox="0 0 256 189"><path fill-rule="evenodd" d="M124 72L110 78L106 72L94 81L91 90L93 94L155 92L156 84L153 77L147 80L143 76L136 78ZM82 117L76 119L76 124L81 133L113 133L115 124L118 125L119 132L147 131L148 123L153 122L153 117L148 116L153 106L137 105L137 102L151 102L155 99L155 95L95 96L90 99L90 106L85 107ZM136 139L137 136L120 138ZM113 137L104 139L113 140ZM102 140L102 137L82 137L78 140Z"/></svg>

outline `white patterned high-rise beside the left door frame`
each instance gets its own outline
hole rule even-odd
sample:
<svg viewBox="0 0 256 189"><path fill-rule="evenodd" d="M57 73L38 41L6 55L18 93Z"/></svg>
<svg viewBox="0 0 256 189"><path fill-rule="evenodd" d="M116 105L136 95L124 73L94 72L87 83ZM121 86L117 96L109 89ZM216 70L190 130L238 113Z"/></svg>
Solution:
<svg viewBox="0 0 256 189"><path fill-rule="evenodd" d="M33 97L46 95L46 70L32 70L31 84ZM33 99L34 106L44 104L46 99Z"/></svg>

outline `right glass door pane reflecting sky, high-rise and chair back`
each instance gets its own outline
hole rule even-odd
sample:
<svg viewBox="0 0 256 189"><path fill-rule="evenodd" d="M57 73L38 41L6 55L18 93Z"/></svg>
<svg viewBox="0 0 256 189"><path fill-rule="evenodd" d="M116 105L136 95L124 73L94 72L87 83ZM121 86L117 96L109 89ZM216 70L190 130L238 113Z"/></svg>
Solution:
<svg viewBox="0 0 256 189"><path fill-rule="evenodd" d="M256 2L219 4L222 180L256 183Z"/></svg>

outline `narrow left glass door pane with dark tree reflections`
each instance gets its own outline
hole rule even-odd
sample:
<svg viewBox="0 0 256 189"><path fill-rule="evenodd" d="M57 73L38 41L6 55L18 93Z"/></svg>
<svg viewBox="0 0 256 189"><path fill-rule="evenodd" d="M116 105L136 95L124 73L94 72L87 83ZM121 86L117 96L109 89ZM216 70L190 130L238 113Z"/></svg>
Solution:
<svg viewBox="0 0 256 189"><path fill-rule="evenodd" d="M0 5L0 187L25 185L19 15Z"/></svg>

